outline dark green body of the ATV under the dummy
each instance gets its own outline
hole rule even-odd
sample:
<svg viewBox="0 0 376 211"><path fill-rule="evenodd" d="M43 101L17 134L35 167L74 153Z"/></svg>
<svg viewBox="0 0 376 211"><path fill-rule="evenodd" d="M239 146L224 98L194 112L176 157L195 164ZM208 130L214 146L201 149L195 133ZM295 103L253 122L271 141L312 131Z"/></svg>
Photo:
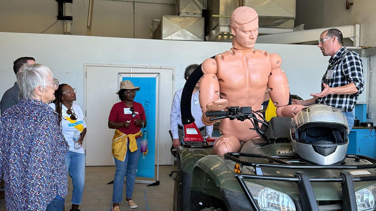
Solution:
<svg viewBox="0 0 376 211"><path fill-rule="evenodd" d="M299 159L294 157L291 143L268 143L262 139L249 140L241 149L242 153L249 155L273 155L275 157L289 157L299 164ZM214 155L212 148L179 148L181 169L176 177L174 210L201 211L214 207L219 210L258 210L254 209L239 180L235 177L234 167L237 162L225 157ZM275 163L261 157L238 157L244 163ZM363 157L364 158L364 157ZM370 168L362 170L352 169L286 169L275 167L256 168L252 165L241 164L241 174L294 177L296 172L304 172L309 177L338 178L341 172L350 172L356 176L376 176L372 158L354 159L346 158L346 165L370 165ZM345 165L345 166L346 166ZM373 168L371 168L373 167ZM365 173L365 175L362 175ZM296 210L305 211L302 207L301 194L296 182L271 181L261 179L244 179L246 183L260 185L290 196ZM353 182L356 191L362 190L375 181ZM178 187L178 188L177 188ZM343 187L341 182L311 182L318 210L344 210ZM179 196L177 196L179 195ZM179 202L179 200L180 202ZM309 209L314 210L314 209Z"/></svg>

